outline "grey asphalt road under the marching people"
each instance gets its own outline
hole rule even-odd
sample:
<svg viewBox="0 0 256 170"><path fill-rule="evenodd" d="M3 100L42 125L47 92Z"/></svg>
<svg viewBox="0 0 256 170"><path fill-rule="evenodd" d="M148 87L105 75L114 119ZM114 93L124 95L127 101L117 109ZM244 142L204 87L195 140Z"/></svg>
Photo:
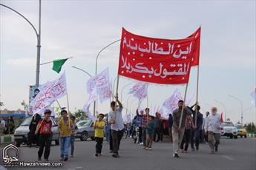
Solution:
<svg viewBox="0 0 256 170"><path fill-rule="evenodd" d="M180 158L172 157L171 143L154 143L152 151L145 151L142 146L132 143L131 139L122 140L120 157L113 158L108 152L108 143L104 141L102 157L93 157L95 143L93 141L75 142L75 156L59 168L47 169L102 169L102 170L151 170L151 169L197 169L197 170L255 170L256 169L256 138L221 138L220 149L217 154L209 154L209 146L200 145L200 150L188 154L181 154ZM1 146L2 154L3 147ZM20 160L36 161L36 147L19 148ZM52 146L50 161L59 161L59 146ZM0 160L2 164L2 158ZM1 169L1 168L0 168ZM10 168L7 169L46 169L40 167Z"/></svg>

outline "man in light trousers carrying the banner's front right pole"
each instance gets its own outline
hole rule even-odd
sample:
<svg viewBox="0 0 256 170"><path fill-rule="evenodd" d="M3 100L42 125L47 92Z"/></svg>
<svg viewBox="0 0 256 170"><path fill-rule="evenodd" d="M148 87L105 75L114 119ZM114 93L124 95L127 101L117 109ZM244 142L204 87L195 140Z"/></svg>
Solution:
<svg viewBox="0 0 256 170"><path fill-rule="evenodd" d="M185 121L186 121L186 115L191 115L192 112L190 109L185 107L184 101L180 100L178 102L179 109L174 110L172 113L173 115L173 126L172 126L172 137L173 137L173 148L174 148L174 154L173 157L180 157L179 151L180 151L180 143L183 140L183 135L185 132ZM181 112L183 110L183 117L181 118ZM180 124L180 118L182 119Z"/></svg>

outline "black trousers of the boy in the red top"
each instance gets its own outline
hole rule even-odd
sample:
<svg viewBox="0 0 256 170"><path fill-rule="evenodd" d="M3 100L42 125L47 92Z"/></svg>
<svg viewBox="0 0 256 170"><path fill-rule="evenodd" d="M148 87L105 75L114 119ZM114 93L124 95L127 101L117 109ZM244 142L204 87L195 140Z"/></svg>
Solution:
<svg viewBox="0 0 256 170"><path fill-rule="evenodd" d="M39 157L42 157L42 154L43 154L44 148L45 148L44 158L48 159L49 154L50 154L51 140L52 140L52 134L50 134L50 135L40 134L39 135L39 152L38 152Z"/></svg>

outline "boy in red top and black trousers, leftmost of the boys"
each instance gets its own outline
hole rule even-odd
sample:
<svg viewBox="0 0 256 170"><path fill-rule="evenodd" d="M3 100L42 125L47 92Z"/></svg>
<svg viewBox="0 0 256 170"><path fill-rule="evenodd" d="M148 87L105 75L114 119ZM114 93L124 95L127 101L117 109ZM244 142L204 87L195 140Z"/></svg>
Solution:
<svg viewBox="0 0 256 170"><path fill-rule="evenodd" d="M50 144L52 139L52 122L50 120L50 109L45 110L45 118L39 120L38 125L36 126L35 135L39 134L39 152L38 152L38 160L41 160L42 154L45 148L44 158L45 161L48 161L49 154L50 154Z"/></svg>

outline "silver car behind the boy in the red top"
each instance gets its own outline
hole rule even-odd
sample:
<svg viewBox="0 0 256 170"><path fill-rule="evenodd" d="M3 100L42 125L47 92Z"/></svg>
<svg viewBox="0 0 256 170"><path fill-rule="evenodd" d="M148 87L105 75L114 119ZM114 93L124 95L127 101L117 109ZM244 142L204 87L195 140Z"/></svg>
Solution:
<svg viewBox="0 0 256 170"><path fill-rule="evenodd" d="M42 117L44 118L44 117ZM32 117L25 118L21 125L15 130L14 132L14 140L16 142L16 146L19 147L22 143L28 144L27 140L27 133L30 132L29 126ZM53 123L53 141L55 141L56 145L59 145L59 130L58 130L58 123L54 118L50 118Z"/></svg>

